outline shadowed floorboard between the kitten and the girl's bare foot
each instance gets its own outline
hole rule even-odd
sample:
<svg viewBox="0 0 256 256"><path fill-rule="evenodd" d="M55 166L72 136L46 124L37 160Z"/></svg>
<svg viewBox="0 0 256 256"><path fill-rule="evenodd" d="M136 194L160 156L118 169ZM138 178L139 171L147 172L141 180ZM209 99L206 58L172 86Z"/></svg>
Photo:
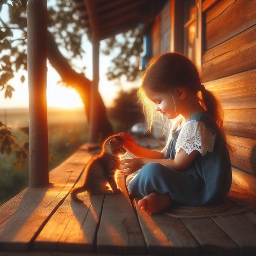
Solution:
<svg viewBox="0 0 256 256"><path fill-rule="evenodd" d="M145 253L144 238L128 197L124 176L120 173L117 182L122 193L105 195L97 234L97 250L115 254Z"/></svg>

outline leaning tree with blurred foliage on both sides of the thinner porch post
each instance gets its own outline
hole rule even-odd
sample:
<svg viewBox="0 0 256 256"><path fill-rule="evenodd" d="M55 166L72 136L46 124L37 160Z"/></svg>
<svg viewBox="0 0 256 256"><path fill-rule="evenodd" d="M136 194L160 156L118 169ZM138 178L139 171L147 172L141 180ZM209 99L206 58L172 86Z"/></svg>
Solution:
<svg viewBox="0 0 256 256"><path fill-rule="evenodd" d="M5 23L0 18L0 53L3 55L0 59L0 90L5 90L5 97L11 98L14 88L9 80L18 71L27 70L27 0L1 0L0 11L3 4L9 5L9 22ZM60 74L62 83L79 92L85 105L85 114L90 121L91 81L85 76L85 67L76 67L72 63L73 58L83 58L84 50L81 45L86 28L74 10L73 0L55 0L54 4L48 4L48 16L47 58ZM14 34L18 36L13 38ZM117 37L106 39L106 48L102 50L104 54L110 54L113 49L119 48L119 54L109 67L108 79L119 79L125 74L128 81L134 81L139 74L138 59L135 56L139 56L142 51L139 30L130 30L119 38L121 40ZM25 81L23 74L20 81ZM113 131L100 94L97 97L100 121L97 134L105 138ZM4 129L7 128L3 124L2 130Z"/></svg>

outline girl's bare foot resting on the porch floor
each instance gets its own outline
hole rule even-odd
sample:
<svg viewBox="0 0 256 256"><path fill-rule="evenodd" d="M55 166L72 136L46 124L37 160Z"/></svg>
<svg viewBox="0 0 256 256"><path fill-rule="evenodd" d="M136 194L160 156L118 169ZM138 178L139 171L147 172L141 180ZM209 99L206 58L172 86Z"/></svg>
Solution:
<svg viewBox="0 0 256 256"><path fill-rule="evenodd" d="M163 195L153 192L139 200L138 205L141 207L141 210L149 215L153 215L164 211L164 209L171 205L171 202L172 198L169 194Z"/></svg>

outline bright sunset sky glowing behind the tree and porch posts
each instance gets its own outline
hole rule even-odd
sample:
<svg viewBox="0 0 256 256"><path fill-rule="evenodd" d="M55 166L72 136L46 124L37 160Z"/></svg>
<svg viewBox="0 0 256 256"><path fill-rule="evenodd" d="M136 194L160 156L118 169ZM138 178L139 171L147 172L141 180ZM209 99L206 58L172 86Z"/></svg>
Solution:
<svg viewBox="0 0 256 256"><path fill-rule="evenodd" d="M6 10L7 5L3 6L0 16L3 20L7 20L8 13ZM92 44L88 40L83 40L85 49L85 57L81 61L81 65L86 66L85 76L92 80ZM102 43L102 42L101 42ZM0 54L1 55L1 54ZM0 56L1 57L1 56ZM100 54L99 59L99 92L103 98L106 106L110 106L112 100L116 97L117 92L120 88L115 85L115 82L108 81L106 78L106 72L108 68L108 63L110 63L112 56L104 56ZM79 60L76 60L79 65ZM83 103L79 94L73 88L66 88L62 85L58 85L57 82L61 80L59 74L54 70L54 68L47 61L47 105L48 108L58 107L58 108L82 108ZM27 72L24 72L25 82L20 82L20 76L22 73L17 74L13 79L9 81L9 84L15 89L11 99L4 98L4 90L0 91L0 108L28 108L29 106L29 95L28 95L28 85L27 85ZM127 83L122 83L125 88L131 88L136 85Z"/></svg>

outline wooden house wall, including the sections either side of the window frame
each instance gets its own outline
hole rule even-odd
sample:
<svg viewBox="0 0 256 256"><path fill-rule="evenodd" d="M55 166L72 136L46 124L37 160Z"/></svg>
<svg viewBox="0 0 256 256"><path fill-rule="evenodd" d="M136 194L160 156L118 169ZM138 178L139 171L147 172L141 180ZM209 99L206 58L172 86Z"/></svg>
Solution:
<svg viewBox="0 0 256 256"><path fill-rule="evenodd" d="M170 20L170 49L185 45L184 11L188 0L169 0L155 19L151 30L152 55L162 49L163 22ZM192 0L191 0L192 1ZM195 0L197 39L195 51L201 63L207 89L223 102L228 139L236 151L231 153L234 173L247 177L244 184L256 187L256 0ZM169 10L166 10L169 8ZM170 13L171 18L166 15ZM184 32L183 32L184 33ZM185 46L184 46L185 47ZM168 48L168 47L167 47ZM183 50L184 53L185 49Z"/></svg>

